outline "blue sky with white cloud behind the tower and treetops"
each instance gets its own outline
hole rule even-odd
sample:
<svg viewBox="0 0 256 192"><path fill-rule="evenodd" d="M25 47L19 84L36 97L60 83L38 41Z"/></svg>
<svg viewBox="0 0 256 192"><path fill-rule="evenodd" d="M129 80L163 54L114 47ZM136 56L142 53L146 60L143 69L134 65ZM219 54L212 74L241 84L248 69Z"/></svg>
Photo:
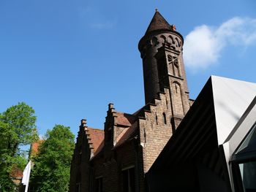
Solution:
<svg viewBox="0 0 256 192"><path fill-rule="evenodd" d="M155 8L185 39L190 97L211 74L256 82L256 1L0 1L0 112L25 101L39 134L80 119L103 128L108 103L144 104L138 42Z"/></svg>

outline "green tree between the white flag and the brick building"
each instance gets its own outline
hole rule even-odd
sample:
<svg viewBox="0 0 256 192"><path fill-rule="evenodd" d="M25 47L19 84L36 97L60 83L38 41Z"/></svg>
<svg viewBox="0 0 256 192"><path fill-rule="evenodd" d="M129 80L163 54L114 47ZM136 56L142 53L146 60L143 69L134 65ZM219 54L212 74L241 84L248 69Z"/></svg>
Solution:
<svg viewBox="0 0 256 192"><path fill-rule="evenodd" d="M56 125L45 137L34 158L31 183L37 191L68 191L75 136L69 127Z"/></svg>

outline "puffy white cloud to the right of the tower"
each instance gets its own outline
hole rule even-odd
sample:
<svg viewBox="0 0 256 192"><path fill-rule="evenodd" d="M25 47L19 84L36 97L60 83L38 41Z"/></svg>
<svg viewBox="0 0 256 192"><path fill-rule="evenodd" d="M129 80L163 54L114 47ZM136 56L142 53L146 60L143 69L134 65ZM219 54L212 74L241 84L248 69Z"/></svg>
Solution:
<svg viewBox="0 0 256 192"><path fill-rule="evenodd" d="M197 26L184 42L184 61L192 69L216 64L224 47L248 47L256 42L256 19L232 18L218 27Z"/></svg>

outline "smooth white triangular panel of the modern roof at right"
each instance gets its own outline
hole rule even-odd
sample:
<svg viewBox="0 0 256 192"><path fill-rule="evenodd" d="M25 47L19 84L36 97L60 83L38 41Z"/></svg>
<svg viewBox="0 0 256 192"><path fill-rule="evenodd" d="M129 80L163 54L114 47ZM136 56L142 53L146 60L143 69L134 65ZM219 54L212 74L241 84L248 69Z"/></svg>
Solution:
<svg viewBox="0 0 256 192"><path fill-rule="evenodd" d="M218 144L222 145L256 96L256 83L211 76Z"/></svg>

